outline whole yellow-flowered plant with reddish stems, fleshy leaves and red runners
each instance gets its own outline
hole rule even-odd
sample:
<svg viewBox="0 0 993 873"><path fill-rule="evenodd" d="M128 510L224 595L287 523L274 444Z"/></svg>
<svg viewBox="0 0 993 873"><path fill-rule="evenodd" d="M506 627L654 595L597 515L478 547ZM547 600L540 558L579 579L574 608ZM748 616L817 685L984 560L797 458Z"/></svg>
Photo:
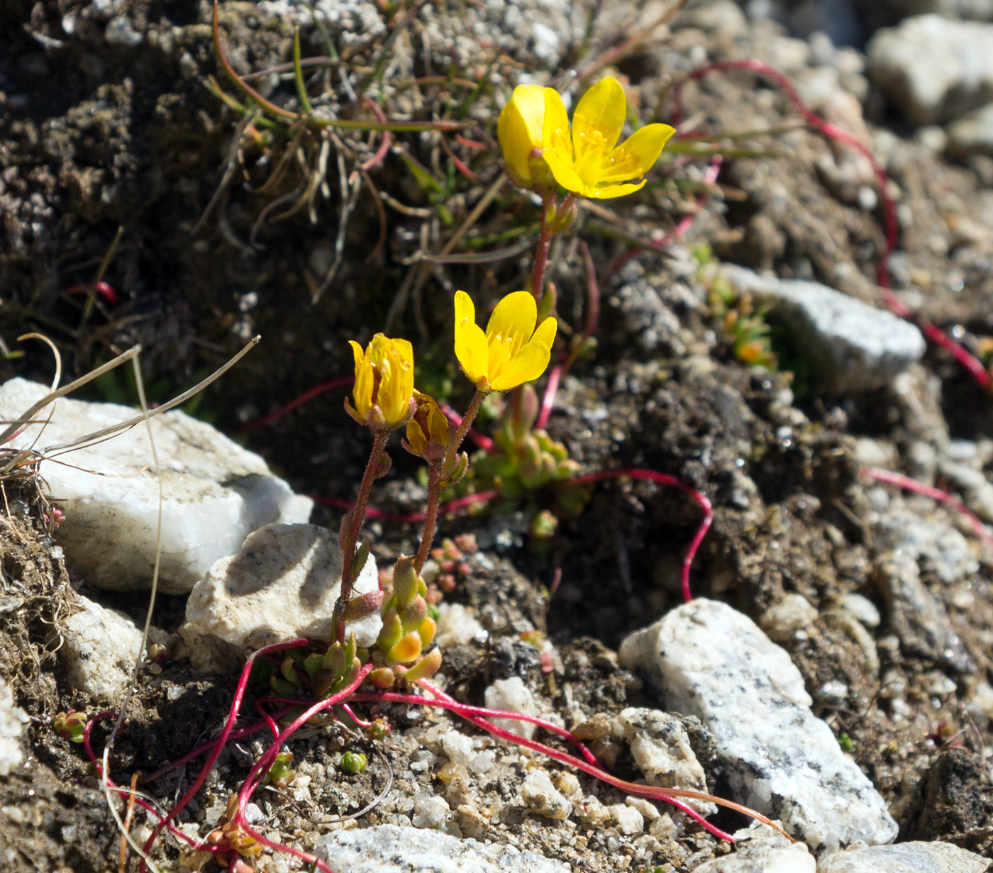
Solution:
<svg viewBox="0 0 993 873"><path fill-rule="evenodd" d="M156 811L145 800L135 800L158 820L146 841L146 852L158 834L168 828L195 852L210 853L222 866L238 873L250 871L252 859L264 847L287 852L314 868L331 873L333 868L315 855L276 843L254 829L245 818L245 807L260 786L267 783L278 786L292 778L293 759L285 750L285 744L304 724L326 717L324 713L347 718L364 729L370 738L382 739L388 733L388 725L382 719L362 721L351 708L356 702L410 703L450 709L495 736L580 769L623 792L672 803L723 839L730 837L705 821L683 800L712 800L772 823L730 801L619 780L565 729L539 718L462 703L428 681L440 667L442 653L435 645L436 627L426 601L427 588L421 572L434 538L441 496L466 473L469 459L461 446L483 399L495 391L518 389L540 377L550 363L558 322L549 315L553 301L545 299L542 293L542 258L547 255L548 240L552 233L568 226L577 198L607 199L637 191L643 184L639 177L654 163L671 135L671 129L665 125L648 125L641 129L646 132L638 131L620 147L616 146L626 109L623 88L615 79L605 79L590 89L580 100L571 127L561 98L551 89L525 90L519 99L512 99L511 104L505 120L501 116L500 144L508 172L518 184L538 192L545 206L542 236L535 253L535 267L540 266L540 270L532 272L529 291L515 291L497 303L486 330L476 322L476 308L470 295L463 291L455 295L455 356L476 386L476 394L458 427L447 421L431 396L416 390L413 348L409 342L376 334L364 349L357 343L352 344L355 387L352 402L347 401L346 407L355 420L371 432L372 448L355 505L342 522L342 587L331 638L280 643L248 657L219 736L170 765L179 766L207 754L202 771L181 800L165 814ZM561 205L555 204L557 186L568 191ZM521 437L524 430L529 430L534 418L533 397L525 406L530 412L518 416L522 430L515 434L515 439ZM359 543L367 501L374 482L389 470L386 447L390 435L397 430L404 431L403 445L407 451L424 460L428 467L427 507L420 545L415 555L399 556L392 570L391 585L385 591L355 596L355 579L369 549L367 542ZM606 477L609 473L591 476ZM348 626L376 611L382 616L382 630L374 645L367 650L360 649ZM256 674L255 668L262 664L265 669L259 672L275 695L256 701L262 715L260 721L235 729L247 684ZM92 754L90 730L98 720L109 715L99 713L89 718L82 732L83 745L98 769L100 764ZM494 718L534 723L574 743L577 754L570 755L517 737L497 726L492 721ZM69 721L67 716L65 727L73 736L77 730ZM269 731L272 743L252 765L237 794L228 800L224 815L207 841L198 842L176 828L173 821L204 785L227 741L257 731ZM353 754L347 765L343 761L343 769L357 772L362 764ZM158 775L153 775L152 779ZM108 785L113 787L109 780ZM144 860L141 867L145 867Z"/></svg>

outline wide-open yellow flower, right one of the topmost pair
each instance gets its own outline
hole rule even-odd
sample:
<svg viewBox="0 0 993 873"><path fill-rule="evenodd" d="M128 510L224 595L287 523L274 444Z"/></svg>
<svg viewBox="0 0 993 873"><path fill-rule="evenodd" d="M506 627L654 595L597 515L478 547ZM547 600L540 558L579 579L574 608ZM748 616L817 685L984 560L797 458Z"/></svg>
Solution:
<svg viewBox="0 0 993 873"><path fill-rule="evenodd" d="M606 199L638 191L638 179L654 166L662 146L673 133L667 124L646 124L615 147L624 128L628 101L613 76L591 87L569 118L558 91L545 88L541 139L544 159L556 181L581 197Z"/></svg>

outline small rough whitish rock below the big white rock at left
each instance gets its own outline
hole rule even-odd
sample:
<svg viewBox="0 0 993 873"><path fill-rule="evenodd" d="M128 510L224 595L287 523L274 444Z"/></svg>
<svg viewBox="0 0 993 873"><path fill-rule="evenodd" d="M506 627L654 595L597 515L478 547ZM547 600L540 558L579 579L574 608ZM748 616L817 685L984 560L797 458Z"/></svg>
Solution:
<svg viewBox="0 0 993 873"><path fill-rule="evenodd" d="M98 700L112 701L131 681L140 654L141 631L123 613L79 597L81 612L63 627L59 655L71 687Z"/></svg>

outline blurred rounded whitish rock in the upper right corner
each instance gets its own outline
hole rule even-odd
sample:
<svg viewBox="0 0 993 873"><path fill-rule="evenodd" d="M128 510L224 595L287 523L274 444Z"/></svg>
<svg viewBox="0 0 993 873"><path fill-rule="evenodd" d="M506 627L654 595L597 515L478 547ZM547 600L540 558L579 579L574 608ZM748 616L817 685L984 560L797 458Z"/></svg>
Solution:
<svg viewBox="0 0 993 873"><path fill-rule="evenodd" d="M878 31L866 53L873 81L914 124L993 98L993 25L919 15Z"/></svg>

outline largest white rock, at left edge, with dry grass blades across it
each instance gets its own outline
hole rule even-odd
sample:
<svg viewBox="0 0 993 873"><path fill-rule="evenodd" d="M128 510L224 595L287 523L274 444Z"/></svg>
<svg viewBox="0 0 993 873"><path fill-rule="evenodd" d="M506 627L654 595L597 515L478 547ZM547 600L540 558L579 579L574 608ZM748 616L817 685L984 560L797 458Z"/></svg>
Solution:
<svg viewBox="0 0 993 873"><path fill-rule="evenodd" d="M48 389L25 379L0 388L0 418L16 419ZM53 412L45 410L43 418ZM28 427L8 446L54 446L134 418L127 406L62 399L52 421ZM162 565L159 587L193 588L213 562L237 551L271 521L306 521L313 502L293 494L265 462L209 424L173 410L151 419L162 469ZM67 561L97 588L148 588L155 559L159 486L144 423L93 446L43 463L41 473L65 512L56 531Z"/></svg>

